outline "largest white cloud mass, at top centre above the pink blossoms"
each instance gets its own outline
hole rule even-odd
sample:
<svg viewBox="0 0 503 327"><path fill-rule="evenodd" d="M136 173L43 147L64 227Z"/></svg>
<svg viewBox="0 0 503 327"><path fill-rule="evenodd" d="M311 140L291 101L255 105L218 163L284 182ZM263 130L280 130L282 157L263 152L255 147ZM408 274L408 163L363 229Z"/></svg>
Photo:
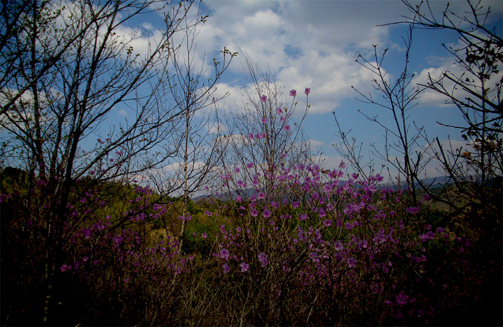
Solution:
<svg viewBox="0 0 503 327"><path fill-rule="evenodd" d="M223 46L245 50L259 66L276 72L279 84L296 89L296 100L304 101L301 91L311 88L312 113L329 112L342 99L355 96L352 85L367 91L372 73L354 60L371 44L388 41L389 28L376 27L376 22L388 23L390 17L405 13L397 4L381 3L378 8L375 3L359 4L354 15L355 5L347 2L210 1L205 3L210 17L198 43L214 52ZM382 21L375 19L379 14ZM243 64L240 55L230 70L241 73ZM239 103L236 90L232 91Z"/></svg>

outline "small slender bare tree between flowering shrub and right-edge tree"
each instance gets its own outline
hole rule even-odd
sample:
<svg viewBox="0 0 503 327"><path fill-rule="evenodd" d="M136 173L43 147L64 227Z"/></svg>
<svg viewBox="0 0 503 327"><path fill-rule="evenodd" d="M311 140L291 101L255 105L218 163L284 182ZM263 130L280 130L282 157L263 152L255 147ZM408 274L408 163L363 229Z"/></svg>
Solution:
<svg viewBox="0 0 503 327"><path fill-rule="evenodd" d="M373 79L373 87L380 97L376 98L372 93L363 94L352 88L360 95L357 100L376 105L385 109L391 115L392 123L387 125L378 115L368 115L359 110L369 121L381 126L385 133L384 148L378 149L375 145L371 145L371 156L389 163L398 171L398 174L405 179L415 205L417 203L418 177L424 172L431 158L425 158L422 151L415 151L414 153L414 147L422 147L422 144L418 143L418 141L427 138L427 135L423 127L418 127L415 122L412 122L412 124L410 122L409 111L417 105L417 100L424 89L411 85L414 74L409 72L408 63L412 46L412 32L413 25L410 25L407 38L403 39L405 44L403 70L394 81L389 80L389 75L383 67L383 61L388 49L385 49L382 55L379 56L377 54L377 45L374 45L372 61L365 59L362 55L357 58L359 64L376 75L376 78ZM336 149L352 163L358 172L366 176L365 168L370 166L372 169L373 159L367 165L362 164L363 156L360 152L362 145L356 144L356 140L350 141L348 133L341 130L335 114L334 118L338 126L338 136L341 139L341 144L337 144ZM411 130L411 128L413 129ZM399 156L396 156L396 154L399 154Z"/></svg>

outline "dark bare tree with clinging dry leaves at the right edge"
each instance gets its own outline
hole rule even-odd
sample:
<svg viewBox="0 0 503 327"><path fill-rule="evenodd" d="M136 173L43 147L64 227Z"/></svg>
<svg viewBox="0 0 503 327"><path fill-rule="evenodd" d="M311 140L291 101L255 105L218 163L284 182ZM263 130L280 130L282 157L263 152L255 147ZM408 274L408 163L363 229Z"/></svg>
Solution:
<svg viewBox="0 0 503 327"><path fill-rule="evenodd" d="M447 149L436 139L435 158L454 184L454 193L464 199L461 205L460 201L449 204L456 209L478 208L483 219L501 216L503 40L496 27L489 26L491 9L484 8L480 1L467 1L467 12L455 13L447 4L442 13L436 15L428 1L418 5L403 3L411 16L405 16L399 23L422 29L452 30L459 36L457 46L443 44L458 71L429 75L428 82L421 86L443 95L446 103L454 105L465 121L461 126L439 122L458 130L467 141L464 149L452 146Z"/></svg>

